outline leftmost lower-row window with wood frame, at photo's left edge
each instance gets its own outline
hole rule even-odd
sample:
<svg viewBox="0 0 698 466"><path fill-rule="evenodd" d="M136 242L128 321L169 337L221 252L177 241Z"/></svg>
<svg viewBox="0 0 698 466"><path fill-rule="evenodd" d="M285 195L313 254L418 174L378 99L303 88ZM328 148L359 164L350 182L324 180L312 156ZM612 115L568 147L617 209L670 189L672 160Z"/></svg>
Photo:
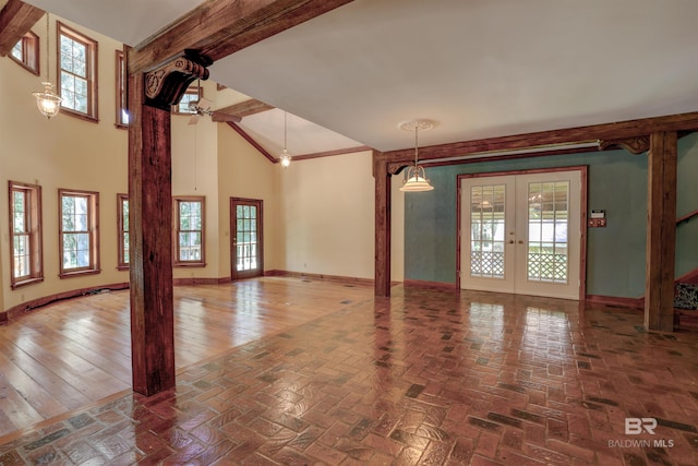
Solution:
<svg viewBox="0 0 698 466"><path fill-rule="evenodd" d="M44 280L41 187L10 181L10 260L14 289Z"/></svg>

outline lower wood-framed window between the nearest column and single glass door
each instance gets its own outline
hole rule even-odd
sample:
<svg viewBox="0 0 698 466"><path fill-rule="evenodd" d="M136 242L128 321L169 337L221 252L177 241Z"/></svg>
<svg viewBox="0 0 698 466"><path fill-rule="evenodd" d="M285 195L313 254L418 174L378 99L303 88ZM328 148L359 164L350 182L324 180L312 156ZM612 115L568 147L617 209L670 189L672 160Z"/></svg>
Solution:
<svg viewBox="0 0 698 466"><path fill-rule="evenodd" d="M206 265L204 255L204 198L174 198L174 265Z"/></svg>

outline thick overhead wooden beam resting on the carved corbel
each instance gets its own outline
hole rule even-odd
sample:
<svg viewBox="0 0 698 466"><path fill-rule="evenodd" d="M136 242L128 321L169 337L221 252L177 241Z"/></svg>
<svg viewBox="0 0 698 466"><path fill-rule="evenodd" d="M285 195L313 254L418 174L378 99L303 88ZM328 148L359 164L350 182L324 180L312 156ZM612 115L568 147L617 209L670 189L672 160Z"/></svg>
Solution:
<svg viewBox="0 0 698 466"><path fill-rule="evenodd" d="M209 0L129 56L133 72L149 71L185 49L216 61L352 0Z"/></svg>

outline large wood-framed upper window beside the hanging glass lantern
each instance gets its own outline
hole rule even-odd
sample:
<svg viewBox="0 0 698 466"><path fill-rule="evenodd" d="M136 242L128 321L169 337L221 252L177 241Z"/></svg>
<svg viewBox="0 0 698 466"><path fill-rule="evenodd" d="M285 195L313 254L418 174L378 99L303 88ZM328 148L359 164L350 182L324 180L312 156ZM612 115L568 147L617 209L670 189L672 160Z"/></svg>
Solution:
<svg viewBox="0 0 698 466"><path fill-rule="evenodd" d="M69 115L97 119L97 41L58 26L59 74L58 92L63 98L61 107Z"/></svg>

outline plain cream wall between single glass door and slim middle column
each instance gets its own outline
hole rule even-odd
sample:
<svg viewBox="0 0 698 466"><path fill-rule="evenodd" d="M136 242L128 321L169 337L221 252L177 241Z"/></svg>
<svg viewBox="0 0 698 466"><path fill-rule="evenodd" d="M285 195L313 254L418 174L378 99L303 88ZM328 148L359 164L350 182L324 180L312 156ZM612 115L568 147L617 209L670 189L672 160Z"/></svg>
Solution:
<svg viewBox="0 0 698 466"><path fill-rule="evenodd" d="M282 267L373 278L374 179L371 152L291 162L278 168Z"/></svg>

